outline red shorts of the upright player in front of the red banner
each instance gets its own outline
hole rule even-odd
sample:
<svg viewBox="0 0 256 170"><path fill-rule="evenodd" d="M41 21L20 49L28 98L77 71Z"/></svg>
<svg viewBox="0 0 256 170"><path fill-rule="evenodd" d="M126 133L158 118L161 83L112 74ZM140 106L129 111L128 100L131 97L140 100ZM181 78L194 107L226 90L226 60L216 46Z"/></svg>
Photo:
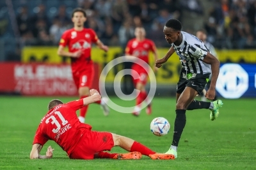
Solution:
<svg viewBox="0 0 256 170"><path fill-rule="evenodd" d="M76 84L77 89L80 87L89 87L92 86L92 81L94 77L94 67L88 66L86 70L81 72L73 72L73 79Z"/></svg>

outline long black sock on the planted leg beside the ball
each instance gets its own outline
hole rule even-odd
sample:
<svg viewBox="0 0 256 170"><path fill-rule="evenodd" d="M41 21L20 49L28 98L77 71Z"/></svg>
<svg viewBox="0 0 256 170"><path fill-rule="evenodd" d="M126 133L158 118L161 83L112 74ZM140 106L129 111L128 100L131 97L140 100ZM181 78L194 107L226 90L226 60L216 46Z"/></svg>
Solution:
<svg viewBox="0 0 256 170"><path fill-rule="evenodd" d="M180 141L180 136L183 132L183 128L185 127L185 125L186 125L186 110L177 109L175 123L174 123L173 140L172 140L173 146L178 146Z"/></svg>

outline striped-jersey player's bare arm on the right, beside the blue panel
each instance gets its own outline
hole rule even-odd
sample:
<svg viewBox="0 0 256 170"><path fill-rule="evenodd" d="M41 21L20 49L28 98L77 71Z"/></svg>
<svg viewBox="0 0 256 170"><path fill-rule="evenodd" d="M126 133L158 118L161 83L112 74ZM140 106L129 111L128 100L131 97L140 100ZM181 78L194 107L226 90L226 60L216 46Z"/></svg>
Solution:
<svg viewBox="0 0 256 170"><path fill-rule="evenodd" d="M208 98L209 100L213 100L215 97L216 82L220 72L220 61L216 59L214 56L212 56L210 52L207 52L203 61L204 63L211 65L211 68L212 68L211 84L210 84L210 88L205 94L205 97Z"/></svg>

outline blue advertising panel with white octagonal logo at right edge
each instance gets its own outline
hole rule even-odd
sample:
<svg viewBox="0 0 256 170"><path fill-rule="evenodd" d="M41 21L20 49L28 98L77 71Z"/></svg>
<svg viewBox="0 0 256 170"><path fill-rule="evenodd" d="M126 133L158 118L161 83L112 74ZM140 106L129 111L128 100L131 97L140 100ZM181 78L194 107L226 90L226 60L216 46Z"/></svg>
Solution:
<svg viewBox="0 0 256 170"><path fill-rule="evenodd" d="M256 98L256 64L221 64L216 91L224 98Z"/></svg>

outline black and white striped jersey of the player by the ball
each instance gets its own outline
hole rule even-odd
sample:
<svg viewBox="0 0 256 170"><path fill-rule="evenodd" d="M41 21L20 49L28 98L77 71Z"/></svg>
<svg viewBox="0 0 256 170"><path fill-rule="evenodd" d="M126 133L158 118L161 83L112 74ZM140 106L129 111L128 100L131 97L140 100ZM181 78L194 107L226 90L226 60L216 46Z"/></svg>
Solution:
<svg viewBox="0 0 256 170"><path fill-rule="evenodd" d="M191 73L211 73L211 65L203 62L209 50L196 36L180 31L182 42L179 46L172 43L174 50L180 58L183 68Z"/></svg>

